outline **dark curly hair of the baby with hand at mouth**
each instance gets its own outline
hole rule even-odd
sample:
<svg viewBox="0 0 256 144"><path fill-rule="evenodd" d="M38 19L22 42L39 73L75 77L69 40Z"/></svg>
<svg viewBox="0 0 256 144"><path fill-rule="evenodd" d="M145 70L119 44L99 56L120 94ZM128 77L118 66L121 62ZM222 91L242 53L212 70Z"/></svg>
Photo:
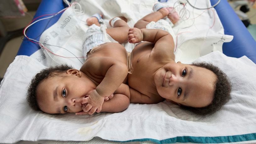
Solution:
<svg viewBox="0 0 256 144"><path fill-rule="evenodd" d="M39 73L36 74L36 76L31 80L27 91L27 101L33 110L40 110L36 100L36 89L40 82L53 76L61 76L60 73L65 72L68 69L72 69L72 67L65 64L42 69Z"/></svg>

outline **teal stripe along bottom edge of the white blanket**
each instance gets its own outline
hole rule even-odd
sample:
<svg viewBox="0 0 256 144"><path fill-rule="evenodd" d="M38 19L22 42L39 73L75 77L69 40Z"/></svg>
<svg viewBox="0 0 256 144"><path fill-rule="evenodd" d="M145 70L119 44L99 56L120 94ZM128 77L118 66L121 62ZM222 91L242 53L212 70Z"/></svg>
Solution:
<svg viewBox="0 0 256 144"><path fill-rule="evenodd" d="M235 135L235 136L213 136L213 137L204 137L204 136L177 136L174 138L169 138L165 140L156 140L156 139L135 139L129 141L116 141L116 142L133 142L133 141L152 141L155 143L224 143L224 142L240 142L240 141L253 141L256 140L256 133L244 134L244 135Z"/></svg>

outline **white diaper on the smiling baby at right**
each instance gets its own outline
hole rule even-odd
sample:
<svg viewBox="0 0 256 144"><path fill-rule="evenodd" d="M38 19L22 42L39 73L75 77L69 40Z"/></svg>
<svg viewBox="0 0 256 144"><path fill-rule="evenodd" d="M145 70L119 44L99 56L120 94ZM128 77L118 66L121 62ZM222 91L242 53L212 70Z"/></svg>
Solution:
<svg viewBox="0 0 256 144"><path fill-rule="evenodd" d="M174 34L174 31L172 30L172 27L170 26L170 23L168 23L166 20L160 19L157 22L152 21L149 24L147 24L146 28L147 29L160 29L160 30L165 30L165 31L169 32L170 35L173 37L174 46L176 45L176 36Z"/></svg>

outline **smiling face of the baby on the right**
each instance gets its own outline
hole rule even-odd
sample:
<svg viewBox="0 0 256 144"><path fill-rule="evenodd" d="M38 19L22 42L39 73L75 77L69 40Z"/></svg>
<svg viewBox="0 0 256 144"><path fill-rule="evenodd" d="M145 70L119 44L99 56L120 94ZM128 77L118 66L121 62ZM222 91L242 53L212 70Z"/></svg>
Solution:
<svg viewBox="0 0 256 144"><path fill-rule="evenodd" d="M154 81L167 101L200 108L213 100L216 75L205 68L171 62L156 72Z"/></svg>

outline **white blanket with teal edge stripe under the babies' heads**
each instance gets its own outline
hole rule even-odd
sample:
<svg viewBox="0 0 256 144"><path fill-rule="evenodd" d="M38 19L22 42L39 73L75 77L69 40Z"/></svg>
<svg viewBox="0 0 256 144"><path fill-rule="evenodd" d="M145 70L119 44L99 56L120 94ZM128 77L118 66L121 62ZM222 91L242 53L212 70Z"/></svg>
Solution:
<svg viewBox="0 0 256 144"><path fill-rule="evenodd" d="M232 99L213 115L198 116L164 101L130 104L121 113L77 116L32 110L26 102L26 87L45 66L34 58L17 56L0 86L0 143L88 141L96 136L111 141L158 143L256 142L256 65L245 56L231 58L218 51L198 61L219 66L231 80Z"/></svg>

